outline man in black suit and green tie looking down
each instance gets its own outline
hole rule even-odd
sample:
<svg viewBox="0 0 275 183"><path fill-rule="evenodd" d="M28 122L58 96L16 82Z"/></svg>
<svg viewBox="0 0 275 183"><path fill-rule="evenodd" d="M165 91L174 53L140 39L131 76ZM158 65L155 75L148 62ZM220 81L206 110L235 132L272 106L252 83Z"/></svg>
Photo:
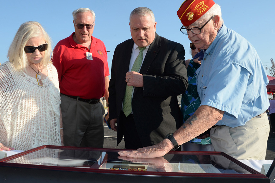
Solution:
<svg viewBox="0 0 275 183"><path fill-rule="evenodd" d="M183 124L177 95L188 81L183 46L156 34L152 10L134 9L129 25L132 39L116 47L112 60L109 117L117 145L124 135L126 149L138 149Z"/></svg>

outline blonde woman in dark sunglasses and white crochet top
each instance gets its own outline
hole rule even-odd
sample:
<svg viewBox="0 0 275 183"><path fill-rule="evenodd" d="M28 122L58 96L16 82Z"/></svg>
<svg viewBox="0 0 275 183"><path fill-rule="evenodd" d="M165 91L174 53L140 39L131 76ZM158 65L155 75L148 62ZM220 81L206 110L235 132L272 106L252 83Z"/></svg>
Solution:
<svg viewBox="0 0 275 183"><path fill-rule="evenodd" d="M51 55L51 39L41 24L23 23L9 47L9 61L0 66L1 151L61 145L58 76Z"/></svg>

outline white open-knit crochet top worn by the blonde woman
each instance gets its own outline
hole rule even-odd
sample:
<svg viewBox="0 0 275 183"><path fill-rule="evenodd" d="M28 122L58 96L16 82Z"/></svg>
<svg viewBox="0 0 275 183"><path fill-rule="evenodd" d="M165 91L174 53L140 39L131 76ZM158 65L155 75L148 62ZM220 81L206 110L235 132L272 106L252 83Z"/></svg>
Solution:
<svg viewBox="0 0 275 183"><path fill-rule="evenodd" d="M61 145L58 75L52 64L47 69L39 86L13 63L0 66L0 143L17 150Z"/></svg>

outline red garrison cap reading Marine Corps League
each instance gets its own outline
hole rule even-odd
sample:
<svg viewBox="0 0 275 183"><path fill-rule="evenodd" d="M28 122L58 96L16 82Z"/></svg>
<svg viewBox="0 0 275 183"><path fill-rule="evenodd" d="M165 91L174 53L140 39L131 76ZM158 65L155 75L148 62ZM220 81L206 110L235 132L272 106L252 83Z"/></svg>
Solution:
<svg viewBox="0 0 275 183"><path fill-rule="evenodd" d="M213 0L186 0L178 9L177 14L182 25L189 26L203 16L214 4Z"/></svg>

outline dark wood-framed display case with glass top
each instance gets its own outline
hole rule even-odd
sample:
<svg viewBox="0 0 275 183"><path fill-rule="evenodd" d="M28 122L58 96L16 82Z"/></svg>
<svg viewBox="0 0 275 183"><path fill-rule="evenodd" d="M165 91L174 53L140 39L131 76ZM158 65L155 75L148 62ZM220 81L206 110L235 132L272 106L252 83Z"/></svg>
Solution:
<svg viewBox="0 0 275 183"><path fill-rule="evenodd" d="M0 160L4 182L263 182L265 175L223 152L171 151L127 158L122 149L43 145Z"/></svg>

